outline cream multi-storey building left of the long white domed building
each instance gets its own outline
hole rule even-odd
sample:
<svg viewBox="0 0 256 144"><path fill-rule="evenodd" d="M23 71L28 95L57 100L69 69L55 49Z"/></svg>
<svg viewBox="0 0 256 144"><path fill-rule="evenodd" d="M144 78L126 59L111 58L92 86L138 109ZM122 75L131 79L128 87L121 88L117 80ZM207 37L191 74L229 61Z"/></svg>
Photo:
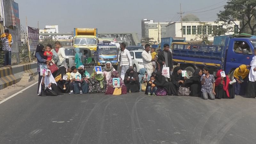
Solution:
<svg viewBox="0 0 256 144"><path fill-rule="evenodd" d="M141 20L141 37L154 38L153 41L161 42L161 37L166 35L166 27L170 22L154 22L154 20Z"/></svg>

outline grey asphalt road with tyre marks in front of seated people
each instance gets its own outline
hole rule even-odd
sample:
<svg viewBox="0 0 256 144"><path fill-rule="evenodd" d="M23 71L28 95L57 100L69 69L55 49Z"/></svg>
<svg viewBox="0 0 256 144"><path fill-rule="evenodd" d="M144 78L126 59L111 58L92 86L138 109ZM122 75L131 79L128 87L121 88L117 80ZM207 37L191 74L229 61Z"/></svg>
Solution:
<svg viewBox="0 0 256 144"><path fill-rule="evenodd" d="M253 144L255 99L202 100L143 92L36 96L0 104L1 144Z"/></svg>

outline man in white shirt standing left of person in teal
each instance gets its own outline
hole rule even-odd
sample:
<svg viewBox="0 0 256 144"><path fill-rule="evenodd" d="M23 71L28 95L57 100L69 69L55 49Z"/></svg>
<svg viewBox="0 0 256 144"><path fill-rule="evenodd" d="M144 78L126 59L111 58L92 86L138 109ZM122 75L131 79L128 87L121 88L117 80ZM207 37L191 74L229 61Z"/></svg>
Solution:
<svg viewBox="0 0 256 144"><path fill-rule="evenodd" d="M59 41L55 42L55 47L57 49L59 49L59 51L58 51L59 61L57 62L57 66L59 68L60 67L65 67L67 69L65 49L61 46Z"/></svg>

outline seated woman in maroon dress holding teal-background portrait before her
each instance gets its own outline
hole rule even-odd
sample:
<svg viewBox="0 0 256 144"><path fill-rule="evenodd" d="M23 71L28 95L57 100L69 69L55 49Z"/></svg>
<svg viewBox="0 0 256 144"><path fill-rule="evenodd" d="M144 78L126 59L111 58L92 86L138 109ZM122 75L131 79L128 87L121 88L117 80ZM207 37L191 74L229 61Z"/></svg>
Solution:
<svg viewBox="0 0 256 144"><path fill-rule="evenodd" d="M113 71L111 73L111 77L108 80L107 91L106 91L105 94L113 94L113 92L115 91L115 88L113 87L113 78L119 78L119 82L120 82L120 87L119 88L121 88L121 91L122 91L121 94L126 94L127 93L127 88L126 88L122 78L118 75L118 71Z"/></svg>

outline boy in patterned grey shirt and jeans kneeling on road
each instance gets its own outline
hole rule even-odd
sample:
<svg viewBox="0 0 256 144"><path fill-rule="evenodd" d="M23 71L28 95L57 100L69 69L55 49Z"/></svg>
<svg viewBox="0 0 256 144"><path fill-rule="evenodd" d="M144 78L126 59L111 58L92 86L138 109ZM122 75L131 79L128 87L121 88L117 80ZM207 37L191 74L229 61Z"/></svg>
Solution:
<svg viewBox="0 0 256 144"><path fill-rule="evenodd" d="M207 100L208 95L210 100L215 99L215 78L213 75L209 73L209 67L204 67L203 76L201 76L201 84L202 84L202 95L203 99Z"/></svg>

